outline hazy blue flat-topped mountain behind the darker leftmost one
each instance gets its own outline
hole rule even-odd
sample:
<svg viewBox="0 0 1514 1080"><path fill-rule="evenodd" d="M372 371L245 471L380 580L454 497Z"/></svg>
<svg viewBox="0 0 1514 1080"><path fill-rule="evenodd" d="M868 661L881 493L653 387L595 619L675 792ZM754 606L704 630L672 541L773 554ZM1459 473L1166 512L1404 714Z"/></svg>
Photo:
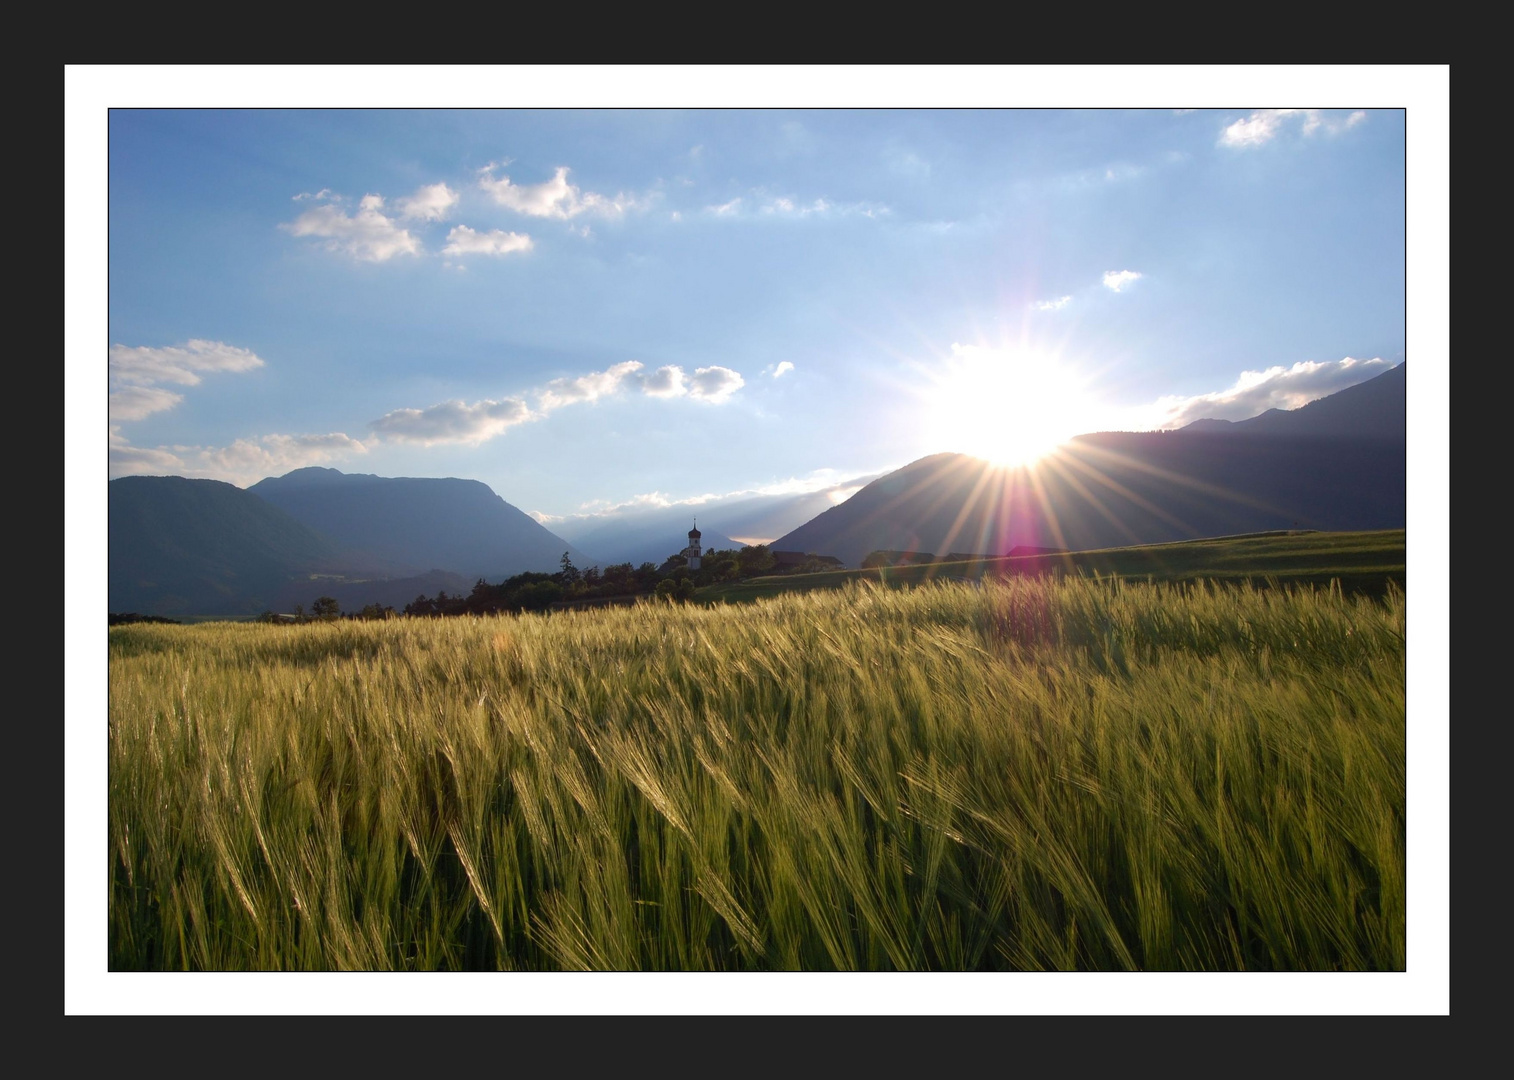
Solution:
<svg viewBox="0 0 1514 1080"><path fill-rule="evenodd" d="M557 571L563 551L580 567L593 562L478 480L313 467L259 480L247 491L345 548L469 582Z"/></svg>

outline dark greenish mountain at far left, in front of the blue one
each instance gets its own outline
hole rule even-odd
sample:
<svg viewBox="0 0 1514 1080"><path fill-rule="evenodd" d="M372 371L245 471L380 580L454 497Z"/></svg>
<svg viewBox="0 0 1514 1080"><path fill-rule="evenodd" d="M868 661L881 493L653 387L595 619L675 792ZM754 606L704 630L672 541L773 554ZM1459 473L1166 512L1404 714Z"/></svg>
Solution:
<svg viewBox="0 0 1514 1080"><path fill-rule="evenodd" d="M297 576L335 570L341 548L257 495L220 480L111 480L112 612L256 615Z"/></svg>

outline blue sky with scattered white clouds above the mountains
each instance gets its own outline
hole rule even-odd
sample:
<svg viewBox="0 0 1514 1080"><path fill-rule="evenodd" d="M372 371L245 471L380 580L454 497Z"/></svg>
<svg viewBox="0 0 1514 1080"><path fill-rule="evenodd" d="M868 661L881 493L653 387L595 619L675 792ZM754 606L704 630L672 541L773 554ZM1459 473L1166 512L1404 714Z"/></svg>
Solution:
<svg viewBox="0 0 1514 1080"><path fill-rule="evenodd" d="M550 523L1241 418L1405 359L1403 221L1397 109L118 109L111 476Z"/></svg>

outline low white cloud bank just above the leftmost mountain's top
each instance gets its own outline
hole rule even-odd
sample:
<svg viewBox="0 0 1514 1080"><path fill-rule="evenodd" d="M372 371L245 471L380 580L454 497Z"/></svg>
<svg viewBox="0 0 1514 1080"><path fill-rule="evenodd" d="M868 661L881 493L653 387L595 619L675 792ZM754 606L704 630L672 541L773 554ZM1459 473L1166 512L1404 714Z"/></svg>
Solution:
<svg viewBox="0 0 1514 1080"><path fill-rule="evenodd" d="M111 429L111 477L186 476L226 480L247 486L265 476L341 460L366 453L368 447L348 435L263 435L238 439L229 447L133 447Z"/></svg>

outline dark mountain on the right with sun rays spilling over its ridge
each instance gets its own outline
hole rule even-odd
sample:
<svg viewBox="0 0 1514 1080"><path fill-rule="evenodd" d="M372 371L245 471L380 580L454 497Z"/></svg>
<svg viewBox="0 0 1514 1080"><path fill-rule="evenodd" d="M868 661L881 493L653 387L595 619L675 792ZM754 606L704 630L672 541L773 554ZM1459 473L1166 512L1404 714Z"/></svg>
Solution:
<svg viewBox="0 0 1514 1080"><path fill-rule="evenodd" d="M1081 435L1034 470L933 454L772 547L855 567L880 548L1007 554L1272 529L1402 529L1403 403L1399 365L1273 418Z"/></svg>

